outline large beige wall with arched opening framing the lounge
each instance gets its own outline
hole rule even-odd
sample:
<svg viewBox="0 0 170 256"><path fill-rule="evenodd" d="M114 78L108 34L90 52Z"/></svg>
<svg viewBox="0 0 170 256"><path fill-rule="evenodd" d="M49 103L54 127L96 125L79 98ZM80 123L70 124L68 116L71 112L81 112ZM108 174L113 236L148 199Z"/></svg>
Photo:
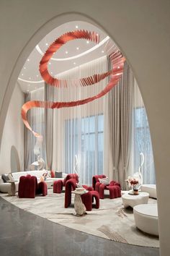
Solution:
<svg viewBox="0 0 170 256"><path fill-rule="evenodd" d="M48 31L68 21L66 17L51 20L66 12L80 12L104 27L133 68L146 104L153 142L161 256L169 255L169 0L1 0L0 135L14 83L25 59ZM71 16L72 19L73 17L77 19L78 15ZM44 29L40 29L43 25Z"/></svg>

